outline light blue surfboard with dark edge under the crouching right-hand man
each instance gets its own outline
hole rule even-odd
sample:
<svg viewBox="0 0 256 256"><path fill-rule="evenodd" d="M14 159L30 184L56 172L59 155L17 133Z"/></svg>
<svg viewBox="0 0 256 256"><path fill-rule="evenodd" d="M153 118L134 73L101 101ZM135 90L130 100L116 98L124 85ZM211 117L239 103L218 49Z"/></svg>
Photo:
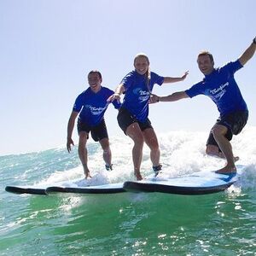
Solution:
<svg viewBox="0 0 256 256"><path fill-rule="evenodd" d="M228 175L216 172L195 172L185 177L157 177L141 181L127 181L124 189L130 192L160 192L177 195L206 195L228 189L241 176L243 166Z"/></svg>

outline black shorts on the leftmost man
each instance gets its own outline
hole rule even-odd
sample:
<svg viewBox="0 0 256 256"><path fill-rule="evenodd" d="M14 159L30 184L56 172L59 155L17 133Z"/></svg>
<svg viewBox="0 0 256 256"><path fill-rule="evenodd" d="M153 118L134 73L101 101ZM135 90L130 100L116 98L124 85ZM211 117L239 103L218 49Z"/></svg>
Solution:
<svg viewBox="0 0 256 256"><path fill-rule="evenodd" d="M108 138L107 126L104 119L102 119L101 123L96 126L90 126L78 120L78 132L80 131L86 131L88 133L87 139L89 138L89 133L91 133L91 137L95 142L98 142L105 137Z"/></svg>

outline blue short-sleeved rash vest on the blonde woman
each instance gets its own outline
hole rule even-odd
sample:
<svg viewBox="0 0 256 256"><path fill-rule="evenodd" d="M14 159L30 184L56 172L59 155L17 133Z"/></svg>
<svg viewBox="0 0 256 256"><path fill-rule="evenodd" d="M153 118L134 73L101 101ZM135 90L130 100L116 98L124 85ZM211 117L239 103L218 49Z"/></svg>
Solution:
<svg viewBox="0 0 256 256"><path fill-rule="evenodd" d="M127 109L140 122L148 118L148 100L154 84L163 84L164 77L151 72L150 81L146 75L137 73L136 70L128 73L120 84L125 86L125 97L122 108Z"/></svg>

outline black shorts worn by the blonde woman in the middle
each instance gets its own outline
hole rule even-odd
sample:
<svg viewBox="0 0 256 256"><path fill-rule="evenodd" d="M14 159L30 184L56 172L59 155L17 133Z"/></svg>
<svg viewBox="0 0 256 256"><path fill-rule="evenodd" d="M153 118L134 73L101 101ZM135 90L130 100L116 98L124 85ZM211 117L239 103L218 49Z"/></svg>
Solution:
<svg viewBox="0 0 256 256"><path fill-rule="evenodd" d="M141 130L144 131L148 128L152 128L151 122L149 119L146 119L145 122L140 122L136 119L135 116L133 116L127 109L125 108L120 108L119 109L119 114L118 114L118 122L119 122L119 126L120 128L125 132L126 135L126 129L129 125L133 124L133 123L137 123Z"/></svg>

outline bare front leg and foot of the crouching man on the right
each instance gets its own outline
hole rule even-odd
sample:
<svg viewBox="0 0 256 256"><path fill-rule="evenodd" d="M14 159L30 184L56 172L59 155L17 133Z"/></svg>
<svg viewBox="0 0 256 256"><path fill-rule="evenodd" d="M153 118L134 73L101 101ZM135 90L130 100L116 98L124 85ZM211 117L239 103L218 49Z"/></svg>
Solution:
<svg viewBox="0 0 256 256"><path fill-rule="evenodd" d="M230 141L225 137L226 132L227 128L224 125L214 125L212 129L213 137L218 143L218 147L221 149L227 160L226 166L224 166L222 169L219 169L217 171L218 173L236 172L232 146Z"/></svg>

